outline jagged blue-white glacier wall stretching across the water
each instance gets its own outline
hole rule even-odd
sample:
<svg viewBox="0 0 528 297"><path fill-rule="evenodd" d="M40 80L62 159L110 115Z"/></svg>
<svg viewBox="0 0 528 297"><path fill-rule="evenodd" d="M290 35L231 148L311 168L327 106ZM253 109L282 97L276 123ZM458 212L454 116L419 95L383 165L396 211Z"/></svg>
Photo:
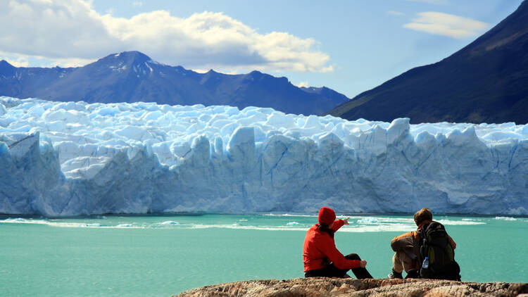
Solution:
<svg viewBox="0 0 528 297"><path fill-rule="evenodd" d="M528 125L0 97L0 213L528 215Z"/></svg>

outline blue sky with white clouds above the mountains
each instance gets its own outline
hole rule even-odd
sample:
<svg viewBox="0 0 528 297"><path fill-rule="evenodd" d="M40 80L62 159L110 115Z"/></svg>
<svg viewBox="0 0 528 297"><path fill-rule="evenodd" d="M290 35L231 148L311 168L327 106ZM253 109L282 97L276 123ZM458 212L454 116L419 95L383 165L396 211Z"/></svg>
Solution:
<svg viewBox="0 0 528 297"><path fill-rule="evenodd" d="M252 70L349 98L436 63L522 0L0 0L0 60L75 67L111 53Z"/></svg>

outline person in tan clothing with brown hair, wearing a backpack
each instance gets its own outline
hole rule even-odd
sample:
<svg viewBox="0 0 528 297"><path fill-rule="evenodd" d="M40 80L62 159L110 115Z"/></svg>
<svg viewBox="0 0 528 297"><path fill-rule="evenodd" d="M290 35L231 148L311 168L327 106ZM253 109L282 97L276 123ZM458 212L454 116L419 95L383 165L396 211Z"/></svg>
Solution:
<svg viewBox="0 0 528 297"><path fill-rule="evenodd" d="M392 273L389 279L401 279L402 272L405 270L408 278L420 277L420 231L422 226L433 221L433 213L429 208L422 208L414 215L416 231L394 237L391 241L391 248L394 253L392 257ZM456 248L455 241L449 236L449 241L453 249Z"/></svg>

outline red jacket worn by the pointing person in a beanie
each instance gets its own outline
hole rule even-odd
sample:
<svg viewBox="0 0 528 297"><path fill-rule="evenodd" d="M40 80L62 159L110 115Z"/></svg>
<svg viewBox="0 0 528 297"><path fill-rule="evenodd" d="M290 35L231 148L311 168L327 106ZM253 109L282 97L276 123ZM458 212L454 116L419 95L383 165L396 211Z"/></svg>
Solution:
<svg viewBox="0 0 528 297"><path fill-rule="evenodd" d="M332 230L337 231L344 225L343 220L334 221ZM360 267L360 260L348 260L337 251L334 239L327 232L319 230L317 225L313 225L304 238L303 245L304 272L318 270L326 267L330 263L338 269L346 270Z"/></svg>

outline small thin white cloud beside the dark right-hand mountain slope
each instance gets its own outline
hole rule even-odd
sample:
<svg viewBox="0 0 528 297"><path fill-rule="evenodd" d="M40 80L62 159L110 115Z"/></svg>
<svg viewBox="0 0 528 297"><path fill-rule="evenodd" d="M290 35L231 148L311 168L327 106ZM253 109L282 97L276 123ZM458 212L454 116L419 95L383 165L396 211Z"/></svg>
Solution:
<svg viewBox="0 0 528 297"><path fill-rule="evenodd" d="M489 24L458 15L427 11L418 13L418 18L413 19L413 23L407 23L403 27L455 39L464 39L482 33L489 27Z"/></svg>

